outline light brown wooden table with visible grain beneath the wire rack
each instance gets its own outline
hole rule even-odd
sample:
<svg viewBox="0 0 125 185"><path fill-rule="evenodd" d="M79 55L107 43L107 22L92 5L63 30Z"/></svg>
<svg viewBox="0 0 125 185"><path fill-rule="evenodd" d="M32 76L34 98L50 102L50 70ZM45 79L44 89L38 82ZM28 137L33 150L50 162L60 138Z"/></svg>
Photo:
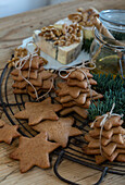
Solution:
<svg viewBox="0 0 125 185"><path fill-rule="evenodd" d="M18 15L3 17L0 20L0 73L2 72L7 61L13 53L13 49L22 44L22 40L32 36L33 30L42 26L53 24L55 21L65 17L70 13L75 12L79 7L84 9L95 7L99 11L102 9L125 9L124 0L77 0L73 2L61 3L57 5L40 8L30 12ZM10 84L11 87L11 84ZM11 95L10 95L11 96ZM7 120L4 113L2 119ZM8 120L7 120L8 121ZM9 121L8 121L9 122ZM52 169L41 170L34 168L25 174L21 174L18 170L18 161L9 159L9 153L16 145L16 140L12 146L0 144L0 184L22 184L22 185L58 185L65 184L57 178ZM53 162L55 161L55 158ZM80 164L64 160L60 166L60 173L78 184L92 185L99 177L100 172L83 166ZM103 185L125 184L125 176L108 174Z"/></svg>

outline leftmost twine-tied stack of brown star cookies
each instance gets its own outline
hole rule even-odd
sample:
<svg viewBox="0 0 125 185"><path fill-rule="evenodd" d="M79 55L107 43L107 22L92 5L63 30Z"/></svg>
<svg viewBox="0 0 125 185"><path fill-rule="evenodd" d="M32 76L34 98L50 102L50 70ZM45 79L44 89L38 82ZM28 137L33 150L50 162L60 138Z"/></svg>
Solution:
<svg viewBox="0 0 125 185"><path fill-rule="evenodd" d="M11 72L14 84L14 94L28 94L30 97L36 98L35 89L37 94L40 95L41 91L47 91L52 86L52 78L57 75L43 69L43 64L47 61L41 57L33 57L32 66L29 67L29 60L24 64L24 66L18 70L14 69ZM32 87L32 85L35 89ZM52 86L53 89L53 86Z"/></svg>

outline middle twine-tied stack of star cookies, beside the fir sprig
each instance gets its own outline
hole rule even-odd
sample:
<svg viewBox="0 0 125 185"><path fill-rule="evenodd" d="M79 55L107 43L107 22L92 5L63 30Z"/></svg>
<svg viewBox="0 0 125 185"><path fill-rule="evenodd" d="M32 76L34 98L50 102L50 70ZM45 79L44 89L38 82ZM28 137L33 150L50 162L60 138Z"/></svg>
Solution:
<svg viewBox="0 0 125 185"><path fill-rule="evenodd" d="M91 85L97 85L97 82L92 79L89 70L84 67L72 71L66 82L59 83L60 89L57 90L55 99L64 107L64 110L60 112L61 115L75 111L86 119L86 109L90 106L91 97L95 100L103 97L90 89Z"/></svg>

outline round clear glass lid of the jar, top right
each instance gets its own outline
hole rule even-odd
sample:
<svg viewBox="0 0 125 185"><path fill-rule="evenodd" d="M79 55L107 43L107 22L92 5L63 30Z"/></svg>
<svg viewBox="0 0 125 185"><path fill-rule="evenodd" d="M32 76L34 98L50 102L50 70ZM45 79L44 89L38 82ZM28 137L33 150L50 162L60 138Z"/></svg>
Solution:
<svg viewBox="0 0 125 185"><path fill-rule="evenodd" d="M107 28L125 32L125 10L103 10L99 18Z"/></svg>

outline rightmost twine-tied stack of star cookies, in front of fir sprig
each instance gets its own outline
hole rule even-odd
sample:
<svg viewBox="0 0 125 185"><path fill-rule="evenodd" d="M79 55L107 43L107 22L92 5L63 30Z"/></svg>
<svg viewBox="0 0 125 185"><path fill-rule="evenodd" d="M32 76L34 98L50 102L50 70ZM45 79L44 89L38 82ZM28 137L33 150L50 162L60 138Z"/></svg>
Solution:
<svg viewBox="0 0 125 185"><path fill-rule="evenodd" d="M91 123L93 130L85 135L89 144L83 148L84 152L95 155L98 164L105 160L125 162L125 130L121 126L123 120L118 115L110 116L101 132L102 120L103 116L98 116Z"/></svg>

